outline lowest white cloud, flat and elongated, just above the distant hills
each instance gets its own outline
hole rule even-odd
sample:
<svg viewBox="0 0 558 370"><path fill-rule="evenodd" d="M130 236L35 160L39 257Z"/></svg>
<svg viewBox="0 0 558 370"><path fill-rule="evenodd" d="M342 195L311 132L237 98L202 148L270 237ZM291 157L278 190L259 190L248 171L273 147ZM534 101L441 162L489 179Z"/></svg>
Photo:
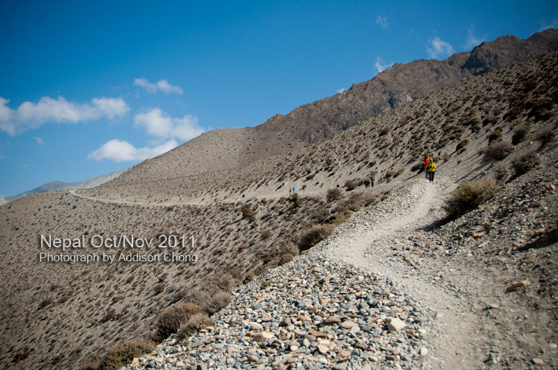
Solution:
<svg viewBox="0 0 558 370"><path fill-rule="evenodd" d="M89 153L87 157L89 159L107 159L116 162L142 161L166 153L172 148L176 148L176 146L178 146L178 143L174 139L170 139L166 143L153 148L135 148L135 146L128 143L128 141L114 139L107 141L107 143L100 146L96 151Z"/></svg>

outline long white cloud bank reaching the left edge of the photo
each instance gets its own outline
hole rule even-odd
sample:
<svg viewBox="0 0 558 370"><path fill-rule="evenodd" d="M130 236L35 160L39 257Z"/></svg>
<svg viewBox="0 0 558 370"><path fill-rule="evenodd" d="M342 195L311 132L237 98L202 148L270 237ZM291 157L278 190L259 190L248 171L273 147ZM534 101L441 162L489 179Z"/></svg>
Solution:
<svg viewBox="0 0 558 370"><path fill-rule="evenodd" d="M79 123L102 118L122 117L130 108L122 98L93 98L91 104L68 102L43 96L36 103L23 102L17 109L6 106L9 100L0 98L0 130L11 136L39 128L45 123Z"/></svg>

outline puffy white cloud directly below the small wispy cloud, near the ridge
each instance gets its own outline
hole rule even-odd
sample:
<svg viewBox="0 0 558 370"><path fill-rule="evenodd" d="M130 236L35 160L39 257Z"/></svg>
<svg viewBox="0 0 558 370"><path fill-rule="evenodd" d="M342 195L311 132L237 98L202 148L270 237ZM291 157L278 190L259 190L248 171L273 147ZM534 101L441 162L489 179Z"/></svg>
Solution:
<svg viewBox="0 0 558 370"><path fill-rule="evenodd" d="M160 108L153 108L145 113L136 114L135 125L143 127L153 137L181 139L187 141L204 132L197 125L197 118L186 114L183 118L169 117Z"/></svg>

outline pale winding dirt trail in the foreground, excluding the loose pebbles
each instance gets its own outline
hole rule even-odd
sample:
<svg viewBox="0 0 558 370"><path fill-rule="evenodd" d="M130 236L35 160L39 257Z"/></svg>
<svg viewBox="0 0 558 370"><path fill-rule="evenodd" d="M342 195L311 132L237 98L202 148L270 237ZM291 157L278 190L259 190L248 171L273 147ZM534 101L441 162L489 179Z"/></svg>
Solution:
<svg viewBox="0 0 558 370"><path fill-rule="evenodd" d="M440 206L448 192L444 184L444 180L428 183L421 176L409 180L386 201L349 219L326 251L334 258L391 277L421 307L435 311L433 330L428 334L427 368L471 369L483 364L474 343L478 321L468 295L446 290L435 283L432 268L411 268L408 261L394 258L393 253L401 248L398 240L412 238L418 229L441 217Z"/></svg>

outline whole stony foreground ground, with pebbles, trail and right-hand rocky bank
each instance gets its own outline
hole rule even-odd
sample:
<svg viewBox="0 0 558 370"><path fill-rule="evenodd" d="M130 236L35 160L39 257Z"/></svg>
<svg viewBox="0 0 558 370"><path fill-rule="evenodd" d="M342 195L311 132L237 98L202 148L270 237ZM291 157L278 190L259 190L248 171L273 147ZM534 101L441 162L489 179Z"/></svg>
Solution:
<svg viewBox="0 0 558 370"><path fill-rule="evenodd" d="M556 367L556 240L540 239L555 230L540 226L556 219L557 172L514 180L502 192L513 202L496 196L442 226L451 180L417 176L241 287L213 326L123 369ZM494 222L502 208L513 216Z"/></svg>

